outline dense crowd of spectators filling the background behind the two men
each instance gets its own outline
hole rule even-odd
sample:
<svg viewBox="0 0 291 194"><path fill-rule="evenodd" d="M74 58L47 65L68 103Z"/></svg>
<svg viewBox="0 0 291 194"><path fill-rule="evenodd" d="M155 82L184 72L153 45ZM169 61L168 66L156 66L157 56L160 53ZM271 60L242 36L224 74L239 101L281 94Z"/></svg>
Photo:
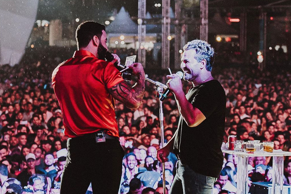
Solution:
<svg viewBox="0 0 291 194"><path fill-rule="evenodd" d="M52 90L51 74L74 50L54 49L29 51L19 65L0 67L1 194L59 193L67 137L63 135L62 112ZM213 75L227 97L224 142L229 135L236 135L244 141L273 141L274 149L291 151L290 72L219 69L214 63ZM150 76L161 83L167 81L165 74ZM187 82L183 85L186 93L191 85ZM125 150L120 164L123 169L120 194L163 193L162 164L156 159L161 137L155 89L146 82L143 102L136 110L116 102L120 144ZM163 111L166 143L173 137L179 120L173 95L164 100ZM237 157L225 154L224 161L213 193L236 193ZM291 157L284 161L284 180L291 184ZM167 191L175 176L176 163L171 153L165 163ZM272 158L249 157L249 186L259 181L272 181ZM87 193L92 193L90 187Z"/></svg>

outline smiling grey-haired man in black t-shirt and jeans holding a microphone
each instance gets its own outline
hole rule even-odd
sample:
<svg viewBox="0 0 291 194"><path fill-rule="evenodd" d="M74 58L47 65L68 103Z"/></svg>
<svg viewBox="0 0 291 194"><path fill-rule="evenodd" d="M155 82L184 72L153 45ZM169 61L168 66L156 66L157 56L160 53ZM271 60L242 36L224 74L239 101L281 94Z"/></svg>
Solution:
<svg viewBox="0 0 291 194"><path fill-rule="evenodd" d="M157 151L157 159L167 161L172 151L179 159L170 194L210 194L223 165L226 95L211 75L213 48L205 41L193 40L183 49L184 80L193 87L185 95L179 76L167 76L180 120L173 138Z"/></svg>

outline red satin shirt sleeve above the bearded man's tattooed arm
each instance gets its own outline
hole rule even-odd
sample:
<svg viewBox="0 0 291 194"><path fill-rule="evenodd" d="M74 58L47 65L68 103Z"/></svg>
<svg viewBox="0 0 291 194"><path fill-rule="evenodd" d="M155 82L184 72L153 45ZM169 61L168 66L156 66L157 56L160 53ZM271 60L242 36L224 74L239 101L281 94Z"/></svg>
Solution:
<svg viewBox="0 0 291 194"><path fill-rule="evenodd" d="M123 80L124 79L122 78L121 73L114 66L114 64L108 63L104 71L104 84L106 88L112 88Z"/></svg>

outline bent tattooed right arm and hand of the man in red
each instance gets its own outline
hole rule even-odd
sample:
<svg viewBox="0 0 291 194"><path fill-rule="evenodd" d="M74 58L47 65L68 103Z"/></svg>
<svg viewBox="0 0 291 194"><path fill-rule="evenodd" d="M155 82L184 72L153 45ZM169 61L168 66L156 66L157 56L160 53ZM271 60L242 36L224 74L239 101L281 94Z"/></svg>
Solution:
<svg viewBox="0 0 291 194"><path fill-rule="evenodd" d="M113 98L122 102L128 108L138 108L145 91L145 73L140 63L134 63L129 68L132 69L134 75L138 76L136 85L130 87L126 81L122 81L109 88L109 92Z"/></svg>

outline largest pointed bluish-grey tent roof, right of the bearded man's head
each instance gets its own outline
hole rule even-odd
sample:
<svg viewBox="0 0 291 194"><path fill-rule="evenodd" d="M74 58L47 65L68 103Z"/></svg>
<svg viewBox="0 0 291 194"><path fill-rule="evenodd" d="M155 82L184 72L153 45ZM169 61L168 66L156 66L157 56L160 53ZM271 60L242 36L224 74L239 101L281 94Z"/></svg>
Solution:
<svg viewBox="0 0 291 194"><path fill-rule="evenodd" d="M106 27L107 33L137 34L138 25L129 17L129 13L122 7L115 20Z"/></svg>

